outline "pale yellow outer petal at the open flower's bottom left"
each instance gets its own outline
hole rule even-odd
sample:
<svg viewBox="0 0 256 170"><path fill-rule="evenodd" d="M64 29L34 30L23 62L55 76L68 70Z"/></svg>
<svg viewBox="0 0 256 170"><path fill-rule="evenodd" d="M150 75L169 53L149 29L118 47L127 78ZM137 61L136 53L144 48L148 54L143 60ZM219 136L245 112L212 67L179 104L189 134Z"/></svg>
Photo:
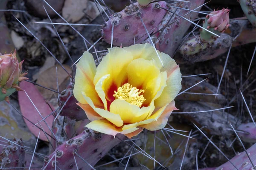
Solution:
<svg viewBox="0 0 256 170"><path fill-rule="evenodd" d="M85 127L112 136L116 136L117 133L120 133L120 131L122 131L120 128L116 127L105 119L94 120L93 122L88 123Z"/></svg>

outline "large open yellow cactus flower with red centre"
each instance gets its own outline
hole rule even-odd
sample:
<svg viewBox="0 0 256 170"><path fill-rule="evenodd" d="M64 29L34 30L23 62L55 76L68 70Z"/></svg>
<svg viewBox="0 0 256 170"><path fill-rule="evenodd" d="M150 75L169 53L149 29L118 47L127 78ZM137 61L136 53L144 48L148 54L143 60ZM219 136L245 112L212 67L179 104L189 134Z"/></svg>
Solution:
<svg viewBox="0 0 256 170"><path fill-rule="evenodd" d="M108 50L97 68L88 52L77 64L74 96L91 121L86 127L129 138L162 129L181 89L175 60L158 51L162 65L148 43Z"/></svg>

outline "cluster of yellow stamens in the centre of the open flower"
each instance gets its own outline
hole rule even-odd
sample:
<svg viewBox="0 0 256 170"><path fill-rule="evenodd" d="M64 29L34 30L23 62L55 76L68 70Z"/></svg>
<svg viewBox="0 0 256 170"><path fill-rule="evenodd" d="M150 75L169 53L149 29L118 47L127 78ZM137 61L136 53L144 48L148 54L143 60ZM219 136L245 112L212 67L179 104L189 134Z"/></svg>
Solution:
<svg viewBox="0 0 256 170"><path fill-rule="evenodd" d="M117 92L114 91L113 95L116 99L125 100L126 102L131 103L132 105L137 105L141 107L143 102L146 100L143 97L144 90L139 90L136 87L132 87L129 83L122 85L117 89Z"/></svg>

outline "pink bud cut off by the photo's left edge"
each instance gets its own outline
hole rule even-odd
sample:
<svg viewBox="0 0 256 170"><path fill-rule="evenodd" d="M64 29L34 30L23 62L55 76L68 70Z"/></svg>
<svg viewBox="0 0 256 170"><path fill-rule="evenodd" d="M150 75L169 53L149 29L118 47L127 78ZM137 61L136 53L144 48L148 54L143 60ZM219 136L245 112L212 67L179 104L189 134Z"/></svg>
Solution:
<svg viewBox="0 0 256 170"><path fill-rule="evenodd" d="M18 82L27 79L27 73L21 73L22 62L18 62L16 51L12 54L0 54L0 102L6 100L15 91L20 90Z"/></svg>

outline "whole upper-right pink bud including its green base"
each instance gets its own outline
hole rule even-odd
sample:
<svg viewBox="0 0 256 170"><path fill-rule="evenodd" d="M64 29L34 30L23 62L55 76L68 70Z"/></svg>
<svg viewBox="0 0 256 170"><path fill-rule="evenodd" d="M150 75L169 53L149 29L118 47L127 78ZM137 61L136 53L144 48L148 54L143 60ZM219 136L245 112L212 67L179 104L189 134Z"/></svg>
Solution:
<svg viewBox="0 0 256 170"><path fill-rule="evenodd" d="M211 12L206 16L203 27L217 35L220 35L220 33L223 33L230 26L229 12L230 9ZM205 31L204 29L201 30L201 40L203 42L211 40L212 37L214 37L213 34Z"/></svg>

